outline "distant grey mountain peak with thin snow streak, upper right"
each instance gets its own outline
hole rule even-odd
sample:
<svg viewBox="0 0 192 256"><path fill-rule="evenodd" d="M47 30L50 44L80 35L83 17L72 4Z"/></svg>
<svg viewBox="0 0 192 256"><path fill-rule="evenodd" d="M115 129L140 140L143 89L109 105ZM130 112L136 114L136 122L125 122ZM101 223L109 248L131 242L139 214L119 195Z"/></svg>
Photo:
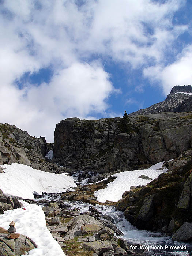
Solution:
<svg viewBox="0 0 192 256"><path fill-rule="evenodd" d="M165 101L154 104L146 109L140 109L128 116L156 114L161 112L189 112L192 110L192 96L190 93L192 93L191 85L174 86Z"/></svg>

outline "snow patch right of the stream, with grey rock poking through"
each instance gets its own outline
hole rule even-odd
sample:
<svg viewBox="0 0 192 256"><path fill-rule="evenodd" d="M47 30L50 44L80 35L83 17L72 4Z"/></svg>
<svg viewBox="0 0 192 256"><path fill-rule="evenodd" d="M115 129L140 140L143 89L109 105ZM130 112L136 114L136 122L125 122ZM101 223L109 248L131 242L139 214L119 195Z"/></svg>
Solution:
<svg viewBox="0 0 192 256"><path fill-rule="evenodd" d="M101 203L105 203L106 200L112 202L119 201L123 193L131 189L130 186L142 186L151 182L151 180L139 178L140 175L146 175L154 180L159 176L159 174L166 172L167 169L163 169L161 171L156 170L162 168L163 163L164 162L157 163L145 170L126 171L111 175L110 177L117 178L113 182L108 183L106 188L94 192L95 196L97 196L97 201ZM153 169L151 169L152 167Z"/></svg>

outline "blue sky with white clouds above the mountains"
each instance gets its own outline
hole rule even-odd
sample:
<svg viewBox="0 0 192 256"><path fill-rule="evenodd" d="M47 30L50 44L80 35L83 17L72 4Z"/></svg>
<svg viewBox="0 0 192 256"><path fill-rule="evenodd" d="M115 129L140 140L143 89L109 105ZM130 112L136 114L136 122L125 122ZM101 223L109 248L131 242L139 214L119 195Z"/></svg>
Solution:
<svg viewBox="0 0 192 256"><path fill-rule="evenodd" d="M191 0L0 0L0 123L54 142L192 84Z"/></svg>

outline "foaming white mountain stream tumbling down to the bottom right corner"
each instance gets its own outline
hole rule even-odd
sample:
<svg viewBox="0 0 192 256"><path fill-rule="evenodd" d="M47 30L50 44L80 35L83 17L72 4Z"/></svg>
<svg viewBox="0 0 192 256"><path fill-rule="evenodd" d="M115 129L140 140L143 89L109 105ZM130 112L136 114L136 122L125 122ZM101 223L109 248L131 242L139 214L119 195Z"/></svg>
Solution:
<svg viewBox="0 0 192 256"><path fill-rule="evenodd" d="M60 196L57 198L50 197L50 195L45 195L48 200L59 200ZM38 199L36 199L38 200ZM89 203L77 202L77 201L63 201L64 204L67 204L69 209L78 208L80 213L86 212L89 210L90 206L93 206ZM99 205L94 206L97 210L102 212L103 215L109 215L113 219L113 223L121 230L123 238L132 244L132 249L144 249L145 256L189 256L192 255L192 243L183 243L172 241L172 238L165 236L162 233L154 233L147 230L138 230L136 227L132 226L124 218L124 213L121 211L115 210L113 206ZM101 218L101 217L100 217ZM101 218L103 219L103 218ZM155 246L157 248L155 248ZM180 246L180 248L178 247ZM131 248L130 248L131 249Z"/></svg>

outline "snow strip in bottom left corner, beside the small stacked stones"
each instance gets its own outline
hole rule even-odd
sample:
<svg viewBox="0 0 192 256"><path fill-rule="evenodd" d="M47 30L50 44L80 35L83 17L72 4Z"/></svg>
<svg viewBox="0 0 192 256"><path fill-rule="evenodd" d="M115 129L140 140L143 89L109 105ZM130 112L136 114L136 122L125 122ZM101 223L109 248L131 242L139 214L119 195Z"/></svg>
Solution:
<svg viewBox="0 0 192 256"><path fill-rule="evenodd" d="M41 206L29 204L22 200L25 206L14 210L8 210L1 215L0 227L9 228L11 221L15 222L16 233L31 238L37 249L29 251L33 256L65 256L63 250L46 227L45 215Z"/></svg>

